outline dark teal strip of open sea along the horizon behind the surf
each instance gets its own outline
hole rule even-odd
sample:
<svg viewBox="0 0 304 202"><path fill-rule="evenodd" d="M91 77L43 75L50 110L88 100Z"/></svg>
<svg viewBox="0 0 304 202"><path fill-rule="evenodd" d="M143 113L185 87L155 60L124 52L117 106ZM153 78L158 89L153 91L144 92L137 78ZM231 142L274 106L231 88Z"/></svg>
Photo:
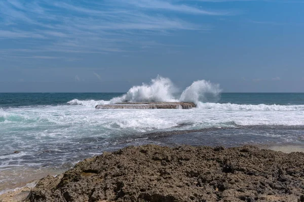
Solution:
<svg viewBox="0 0 304 202"><path fill-rule="evenodd" d="M69 100L110 100L124 93L0 93L0 108L66 105ZM180 94L176 94L179 97ZM221 93L217 103L304 105L304 93Z"/></svg>

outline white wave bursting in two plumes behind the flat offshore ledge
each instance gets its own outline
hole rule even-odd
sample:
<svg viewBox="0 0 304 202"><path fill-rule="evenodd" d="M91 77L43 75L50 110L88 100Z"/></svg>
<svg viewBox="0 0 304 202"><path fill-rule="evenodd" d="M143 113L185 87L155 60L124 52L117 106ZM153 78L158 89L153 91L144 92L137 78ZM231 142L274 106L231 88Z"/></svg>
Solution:
<svg viewBox="0 0 304 202"><path fill-rule="evenodd" d="M149 84L133 86L128 92L120 97L113 97L105 100L79 100L73 99L67 102L68 105L92 106L114 104L121 102L217 102L221 90L219 84L210 81L199 80L188 86L179 98L174 97L177 88L169 78L157 76Z"/></svg>

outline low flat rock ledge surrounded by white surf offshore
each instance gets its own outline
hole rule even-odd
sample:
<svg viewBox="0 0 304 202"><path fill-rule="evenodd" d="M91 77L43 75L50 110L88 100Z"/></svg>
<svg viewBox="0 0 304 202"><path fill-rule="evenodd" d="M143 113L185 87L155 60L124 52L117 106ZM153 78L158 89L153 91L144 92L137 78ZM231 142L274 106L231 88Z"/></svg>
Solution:
<svg viewBox="0 0 304 202"><path fill-rule="evenodd" d="M97 105L97 110L101 109L192 109L194 103L187 102L142 102L142 103L116 103L111 105Z"/></svg>

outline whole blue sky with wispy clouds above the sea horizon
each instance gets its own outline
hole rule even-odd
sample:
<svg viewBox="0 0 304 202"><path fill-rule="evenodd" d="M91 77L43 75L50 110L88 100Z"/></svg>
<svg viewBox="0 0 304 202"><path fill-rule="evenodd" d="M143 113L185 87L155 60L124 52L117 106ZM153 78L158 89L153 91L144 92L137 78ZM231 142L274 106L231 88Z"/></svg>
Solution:
<svg viewBox="0 0 304 202"><path fill-rule="evenodd" d="M0 0L0 92L126 92L161 75L304 92L304 0Z"/></svg>

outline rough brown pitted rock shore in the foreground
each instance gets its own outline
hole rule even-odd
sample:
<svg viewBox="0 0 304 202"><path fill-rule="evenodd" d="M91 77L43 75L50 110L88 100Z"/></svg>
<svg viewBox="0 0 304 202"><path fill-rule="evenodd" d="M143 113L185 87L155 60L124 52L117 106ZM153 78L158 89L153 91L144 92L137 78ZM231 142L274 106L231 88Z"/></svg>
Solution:
<svg viewBox="0 0 304 202"><path fill-rule="evenodd" d="M41 179L29 201L304 201L304 153L130 146Z"/></svg>

